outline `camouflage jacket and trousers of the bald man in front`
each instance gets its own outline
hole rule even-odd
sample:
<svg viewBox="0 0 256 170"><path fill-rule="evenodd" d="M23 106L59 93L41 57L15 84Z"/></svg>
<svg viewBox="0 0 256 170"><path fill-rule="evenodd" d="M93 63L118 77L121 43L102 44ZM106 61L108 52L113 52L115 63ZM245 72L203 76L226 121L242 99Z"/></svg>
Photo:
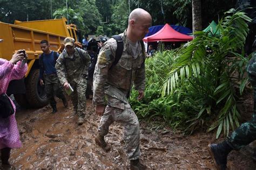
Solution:
<svg viewBox="0 0 256 170"><path fill-rule="evenodd" d="M121 122L124 126L127 155L130 160L136 160L140 156L139 121L127 101L127 96L132 84L136 90L145 89L145 57L139 42L136 55L131 55L126 31L120 36L123 38L124 50L116 65L112 65L117 50L115 39L105 42L99 52L93 77L93 104L105 104L105 99L107 100L98 132L105 136L113 121Z"/></svg>

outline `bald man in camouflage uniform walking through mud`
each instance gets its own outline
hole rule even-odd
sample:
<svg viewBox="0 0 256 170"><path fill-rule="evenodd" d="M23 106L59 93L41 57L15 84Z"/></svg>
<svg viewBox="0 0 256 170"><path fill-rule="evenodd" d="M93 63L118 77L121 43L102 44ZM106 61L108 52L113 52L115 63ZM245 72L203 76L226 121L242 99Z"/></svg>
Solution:
<svg viewBox="0 0 256 170"><path fill-rule="evenodd" d="M104 136L114 121L122 123L130 169L146 169L139 161L139 121L127 98L132 85L138 91L138 100L144 97L145 46L142 39L149 32L151 21L149 12L140 8L133 10L128 28L116 35L120 39L118 42L123 42L122 55L116 56L117 40L107 40L100 50L93 75L92 102L96 105L96 114L102 116L96 144L109 152L111 146L105 142Z"/></svg>

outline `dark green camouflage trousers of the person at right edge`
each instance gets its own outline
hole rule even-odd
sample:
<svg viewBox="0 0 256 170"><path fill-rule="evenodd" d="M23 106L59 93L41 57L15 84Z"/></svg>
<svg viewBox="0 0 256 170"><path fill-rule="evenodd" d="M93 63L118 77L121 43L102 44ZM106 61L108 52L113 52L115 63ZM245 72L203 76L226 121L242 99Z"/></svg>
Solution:
<svg viewBox="0 0 256 170"><path fill-rule="evenodd" d="M256 76L249 74L249 79L254 91L253 118L241 124L237 130L227 137L228 143L236 150L256 139Z"/></svg>

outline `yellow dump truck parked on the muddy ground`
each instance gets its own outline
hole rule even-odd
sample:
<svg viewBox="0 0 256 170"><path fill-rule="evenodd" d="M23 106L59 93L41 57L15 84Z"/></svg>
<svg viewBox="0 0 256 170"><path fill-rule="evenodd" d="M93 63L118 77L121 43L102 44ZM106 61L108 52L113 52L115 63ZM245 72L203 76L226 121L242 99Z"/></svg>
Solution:
<svg viewBox="0 0 256 170"><path fill-rule="evenodd" d="M40 42L48 40L50 49L57 51L65 37L77 39L76 25L66 25L66 19L6 24L0 22L0 58L10 60L14 52L25 49L28 53L28 72L22 80L10 82L7 93L14 94L17 103L24 107L42 107L48 103L44 87L39 84L38 58Z"/></svg>

